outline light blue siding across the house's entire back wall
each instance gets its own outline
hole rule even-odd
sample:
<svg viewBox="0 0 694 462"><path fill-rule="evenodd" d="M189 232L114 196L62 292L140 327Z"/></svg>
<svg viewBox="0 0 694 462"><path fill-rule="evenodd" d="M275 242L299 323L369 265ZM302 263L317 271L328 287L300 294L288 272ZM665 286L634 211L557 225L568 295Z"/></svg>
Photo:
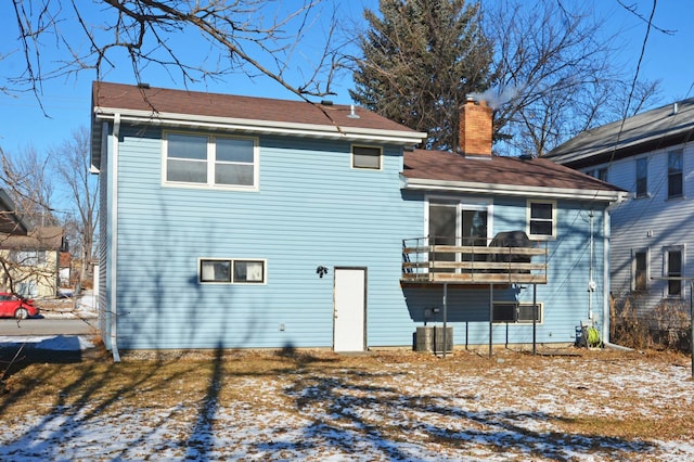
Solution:
<svg viewBox="0 0 694 462"><path fill-rule="evenodd" d="M384 146L382 170L354 169L348 142L260 137L258 191L229 191L165 185L162 132L124 127L120 137L118 210L108 218L117 219L120 348L330 348L335 267L368 268L368 346L409 346L416 326L437 321L425 320L424 310L441 306L442 286L400 285L402 239L425 233L426 209L423 193L400 189L400 149ZM526 200L494 197L493 214L493 233L525 230ZM602 214L594 220L596 264ZM550 284L538 285L538 342L571 342L588 317L587 217L584 204L557 202ZM201 284L200 258L264 259L267 281ZM318 266L330 272L319 278ZM600 264L595 316L602 274ZM509 291L494 295L514 299ZM531 301L531 286L519 299ZM489 342L488 288L449 286L448 307L455 344ZM493 336L494 344L529 343L531 325L494 324Z"/></svg>

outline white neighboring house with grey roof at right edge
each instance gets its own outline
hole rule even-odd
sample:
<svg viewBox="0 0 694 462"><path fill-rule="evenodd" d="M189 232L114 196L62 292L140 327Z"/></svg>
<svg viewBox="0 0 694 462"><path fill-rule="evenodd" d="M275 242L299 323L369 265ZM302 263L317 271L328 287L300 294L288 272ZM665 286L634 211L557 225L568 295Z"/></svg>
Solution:
<svg viewBox="0 0 694 462"><path fill-rule="evenodd" d="M652 326L667 328L677 313L689 320L693 138L689 99L584 131L547 155L630 192L611 213L611 286L618 301L629 301Z"/></svg>

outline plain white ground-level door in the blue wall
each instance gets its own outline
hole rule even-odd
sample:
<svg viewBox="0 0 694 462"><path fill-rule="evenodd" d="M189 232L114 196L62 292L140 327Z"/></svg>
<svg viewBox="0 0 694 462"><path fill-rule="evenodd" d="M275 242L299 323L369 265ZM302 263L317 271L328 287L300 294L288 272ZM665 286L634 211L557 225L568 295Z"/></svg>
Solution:
<svg viewBox="0 0 694 462"><path fill-rule="evenodd" d="M335 351L363 351L367 316L367 269L335 268Z"/></svg>

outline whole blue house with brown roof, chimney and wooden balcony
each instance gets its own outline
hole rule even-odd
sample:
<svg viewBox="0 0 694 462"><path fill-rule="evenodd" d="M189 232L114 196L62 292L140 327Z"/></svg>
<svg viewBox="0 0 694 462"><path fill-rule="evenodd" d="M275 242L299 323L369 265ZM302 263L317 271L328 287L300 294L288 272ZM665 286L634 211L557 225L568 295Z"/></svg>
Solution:
<svg viewBox="0 0 694 462"><path fill-rule="evenodd" d="M573 343L583 320L607 332L607 207L622 192L491 156L484 103L462 107L451 154L330 102L106 82L92 100L100 328L116 359L411 347L445 321L457 347ZM500 232L529 240L490 246Z"/></svg>

